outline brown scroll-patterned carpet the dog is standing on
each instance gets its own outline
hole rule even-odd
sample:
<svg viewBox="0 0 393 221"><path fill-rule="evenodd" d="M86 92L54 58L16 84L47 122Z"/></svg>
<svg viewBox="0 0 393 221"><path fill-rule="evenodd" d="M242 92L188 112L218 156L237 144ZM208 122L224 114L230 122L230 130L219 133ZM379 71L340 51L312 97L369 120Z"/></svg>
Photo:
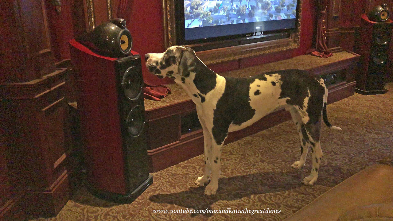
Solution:
<svg viewBox="0 0 393 221"><path fill-rule="evenodd" d="M299 138L292 121L223 147L217 195L203 195L194 180L202 174L202 155L153 173L154 183L131 204L99 200L80 188L50 221L283 220L365 167L393 159L393 83L387 94L355 94L328 106L328 117L343 131L322 126L324 153L318 181L303 186L310 173L310 153L303 169ZM361 193L359 193L361 194ZM154 213L154 210L281 210L280 213Z"/></svg>

